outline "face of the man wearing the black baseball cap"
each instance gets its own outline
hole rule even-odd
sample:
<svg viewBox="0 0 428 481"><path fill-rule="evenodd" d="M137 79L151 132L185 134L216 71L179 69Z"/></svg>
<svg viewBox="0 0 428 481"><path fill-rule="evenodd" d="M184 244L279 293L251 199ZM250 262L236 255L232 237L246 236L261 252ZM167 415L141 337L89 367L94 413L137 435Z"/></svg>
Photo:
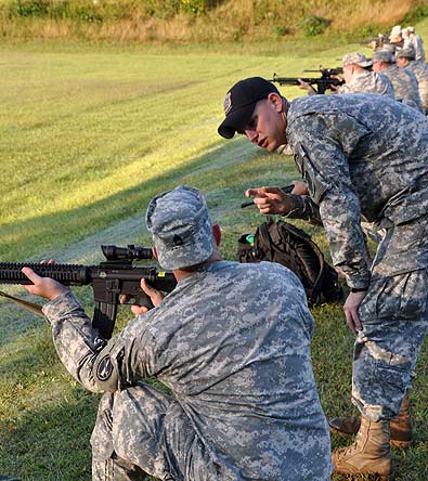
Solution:
<svg viewBox="0 0 428 481"><path fill-rule="evenodd" d="M256 104L252 116L245 126L244 133L251 143L273 152L280 145L286 143L286 127L287 118L284 113L282 96L271 93L267 100Z"/></svg>

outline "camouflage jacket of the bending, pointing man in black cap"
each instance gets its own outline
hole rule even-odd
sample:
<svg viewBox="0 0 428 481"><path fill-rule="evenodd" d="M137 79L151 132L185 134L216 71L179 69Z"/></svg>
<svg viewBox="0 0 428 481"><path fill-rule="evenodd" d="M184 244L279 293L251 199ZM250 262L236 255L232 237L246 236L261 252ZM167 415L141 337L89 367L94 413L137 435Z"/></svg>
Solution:
<svg viewBox="0 0 428 481"><path fill-rule="evenodd" d="M390 225L428 212L428 120L386 96L363 94L296 99L287 120L334 264L350 287L365 288L371 274L361 216ZM388 269L402 272L424 256L403 256Z"/></svg>

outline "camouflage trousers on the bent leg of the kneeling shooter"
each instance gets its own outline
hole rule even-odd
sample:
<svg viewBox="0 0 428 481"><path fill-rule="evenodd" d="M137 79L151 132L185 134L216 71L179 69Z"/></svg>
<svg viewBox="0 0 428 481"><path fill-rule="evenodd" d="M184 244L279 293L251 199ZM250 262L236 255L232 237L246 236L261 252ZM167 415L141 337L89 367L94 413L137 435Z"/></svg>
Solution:
<svg viewBox="0 0 428 481"><path fill-rule="evenodd" d="M219 479L180 404L144 382L103 395L91 445L93 481Z"/></svg>

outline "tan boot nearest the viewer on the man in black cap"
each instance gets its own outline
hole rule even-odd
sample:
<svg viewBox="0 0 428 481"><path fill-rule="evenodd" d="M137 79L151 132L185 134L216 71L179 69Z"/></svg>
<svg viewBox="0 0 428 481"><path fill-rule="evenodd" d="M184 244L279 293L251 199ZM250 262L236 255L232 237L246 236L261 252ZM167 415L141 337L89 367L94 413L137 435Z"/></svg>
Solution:
<svg viewBox="0 0 428 481"><path fill-rule="evenodd" d="M392 476L389 447L389 421L372 421L361 417L355 442L332 454L333 474L369 474L388 481Z"/></svg>

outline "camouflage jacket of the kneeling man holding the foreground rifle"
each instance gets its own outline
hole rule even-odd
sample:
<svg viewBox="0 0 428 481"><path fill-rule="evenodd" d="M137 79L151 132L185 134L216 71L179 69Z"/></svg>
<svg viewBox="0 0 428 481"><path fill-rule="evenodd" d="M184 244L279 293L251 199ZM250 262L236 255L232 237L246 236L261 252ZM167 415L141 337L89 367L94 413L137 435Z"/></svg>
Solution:
<svg viewBox="0 0 428 481"><path fill-rule="evenodd" d="M70 292L43 312L62 362L87 389L148 377L168 386L221 480L329 480L313 318L300 281L282 265L210 263L108 342Z"/></svg>

